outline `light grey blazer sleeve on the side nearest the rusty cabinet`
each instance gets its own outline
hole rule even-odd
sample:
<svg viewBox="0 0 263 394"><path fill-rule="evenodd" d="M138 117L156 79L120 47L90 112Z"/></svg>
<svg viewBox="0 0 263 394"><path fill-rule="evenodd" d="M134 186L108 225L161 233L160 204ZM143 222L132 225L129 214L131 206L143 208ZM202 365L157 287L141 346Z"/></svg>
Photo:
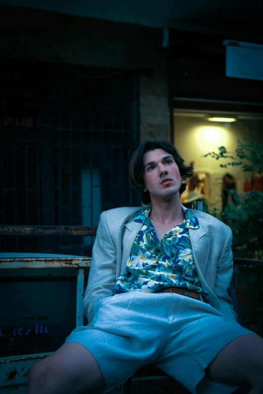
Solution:
<svg viewBox="0 0 263 394"><path fill-rule="evenodd" d="M107 214L102 212L92 249L88 285L84 295L84 314L89 323L94 316L93 305L100 299L113 295L115 281L116 248L110 235Z"/></svg>

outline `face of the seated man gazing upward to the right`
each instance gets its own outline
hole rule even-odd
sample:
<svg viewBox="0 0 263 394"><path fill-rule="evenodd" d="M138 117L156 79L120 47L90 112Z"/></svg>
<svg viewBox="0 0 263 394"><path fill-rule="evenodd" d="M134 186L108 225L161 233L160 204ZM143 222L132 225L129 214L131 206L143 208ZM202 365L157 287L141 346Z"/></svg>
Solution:
<svg viewBox="0 0 263 394"><path fill-rule="evenodd" d="M144 191L156 198L178 193L181 176L171 153L158 148L144 154L144 182Z"/></svg>

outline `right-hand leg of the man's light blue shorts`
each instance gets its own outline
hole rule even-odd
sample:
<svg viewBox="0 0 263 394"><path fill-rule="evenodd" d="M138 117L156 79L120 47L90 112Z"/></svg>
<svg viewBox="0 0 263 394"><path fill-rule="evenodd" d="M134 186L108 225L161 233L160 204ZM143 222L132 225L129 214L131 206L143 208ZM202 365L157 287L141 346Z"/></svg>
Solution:
<svg viewBox="0 0 263 394"><path fill-rule="evenodd" d="M252 332L225 318L209 304L177 294L173 301L169 334L156 365L191 392L197 386L201 390L197 392L202 393L234 391L207 376L203 379L206 368L231 341Z"/></svg>

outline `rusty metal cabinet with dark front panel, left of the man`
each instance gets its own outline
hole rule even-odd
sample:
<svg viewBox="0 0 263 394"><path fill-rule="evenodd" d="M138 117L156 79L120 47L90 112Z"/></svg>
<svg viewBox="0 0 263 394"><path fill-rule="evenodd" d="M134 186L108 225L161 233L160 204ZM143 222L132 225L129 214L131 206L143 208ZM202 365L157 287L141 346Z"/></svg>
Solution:
<svg viewBox="0 0 263 394"><path fill-rule="evenodd" d="M82 256L0 253L0 394L24 393L30 367L83 325L90 262Z"/></svg>

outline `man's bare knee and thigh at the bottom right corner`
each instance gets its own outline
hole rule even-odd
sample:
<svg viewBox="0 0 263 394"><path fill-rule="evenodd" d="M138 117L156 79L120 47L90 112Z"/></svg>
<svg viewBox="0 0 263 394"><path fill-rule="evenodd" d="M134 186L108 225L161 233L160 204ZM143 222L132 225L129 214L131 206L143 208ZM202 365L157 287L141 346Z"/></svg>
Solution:
<svg viewBox="0 0 263 394"><path fill-rule="evenodd" d="M247 383L249 394L263 393L263 339L246 334L222 349L206 369L209 378L232 385Z"/></svg>

